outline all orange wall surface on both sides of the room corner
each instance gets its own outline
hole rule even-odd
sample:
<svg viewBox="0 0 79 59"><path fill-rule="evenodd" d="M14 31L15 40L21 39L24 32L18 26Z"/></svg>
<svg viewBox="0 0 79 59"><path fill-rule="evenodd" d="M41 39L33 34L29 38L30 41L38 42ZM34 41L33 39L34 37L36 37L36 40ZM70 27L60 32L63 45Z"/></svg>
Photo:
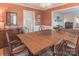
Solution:
<svg viewBox="0 0 79 59"><path fill-rule="evenodd" d="M17 25L19 25L19 26L22 26L22 24L23 24L23 13L22 12L24 9L35 11L36 19L37 19L37 15L40 15L41 23L43 25L51 25L51 11L66 9L66 8L75 7L75 6L79 6L79 3L69 3L69 4L50 8L48 10L43 11L43 10L29 8L29 7L9 4L9 3L0 3L0 10L2 10L0 15L2 15L2 19L4 21L4 22L2 22L1 26L2 26L2 28L4 28L4 23L6 20L6 12L16 12L17 13ZM40 25L41 23L36 22L36 25Z"/></svg>

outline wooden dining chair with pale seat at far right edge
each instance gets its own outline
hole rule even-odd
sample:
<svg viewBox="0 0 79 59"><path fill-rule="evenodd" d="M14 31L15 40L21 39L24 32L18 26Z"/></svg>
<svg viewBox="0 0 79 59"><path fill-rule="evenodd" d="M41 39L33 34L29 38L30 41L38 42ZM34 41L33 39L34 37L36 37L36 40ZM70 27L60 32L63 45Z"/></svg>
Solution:
<svg viewBox="0 0 79 59"><path fill-rule="evenodd" d="M71 39L66 40L66 54L79 55L79 37L72 36Z"/></svg>

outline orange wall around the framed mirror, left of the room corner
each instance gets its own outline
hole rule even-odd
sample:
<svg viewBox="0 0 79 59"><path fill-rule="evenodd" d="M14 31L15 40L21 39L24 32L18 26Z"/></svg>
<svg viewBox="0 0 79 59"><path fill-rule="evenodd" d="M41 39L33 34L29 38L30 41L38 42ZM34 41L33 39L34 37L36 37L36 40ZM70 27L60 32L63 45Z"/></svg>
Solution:
<svg viewBox="0 0 79 59"><path fill-rule="evenodd" d="M6 21L6 12L16 12L17 13L17 25L22 26L23 25L23 10L31 10L35 11L36 15L41 15L41 10L19 6L15 4L9 4L9 3L0 3L0 10L4 11L4 13L1 13L3 15L2 19L4 20L3 23ZM41 19L41 18L40 18ZM40 23L37 23L39 25ZM1 25L3 26L3 25Z"/></svg>

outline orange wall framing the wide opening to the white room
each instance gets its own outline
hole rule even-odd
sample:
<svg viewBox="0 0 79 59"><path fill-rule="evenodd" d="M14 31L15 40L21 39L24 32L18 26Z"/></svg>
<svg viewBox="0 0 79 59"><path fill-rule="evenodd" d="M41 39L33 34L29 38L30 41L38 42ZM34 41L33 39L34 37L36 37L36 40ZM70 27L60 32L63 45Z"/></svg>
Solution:
<svg viewBox="0 0 79 59"><path fill-rule="evenodd" d="M58 7L54 7L54 8L45 10L44 14L43 14L43 24L51 25L51 12L52 11L66 9L66 8L70 8L70 7L76 7L76 6L79 6L79 3L69 3L69 4L65 4L62 6L58 6Z"/></svg>

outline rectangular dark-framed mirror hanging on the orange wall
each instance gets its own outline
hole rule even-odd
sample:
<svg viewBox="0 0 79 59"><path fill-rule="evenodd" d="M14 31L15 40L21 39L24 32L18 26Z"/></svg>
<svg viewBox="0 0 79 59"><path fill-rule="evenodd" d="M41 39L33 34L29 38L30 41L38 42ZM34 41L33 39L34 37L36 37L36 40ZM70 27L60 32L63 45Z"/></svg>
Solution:
<svg viewBox="0 0 79 59"><path fill-rule="evenodd" d="M6 25L16 25L16 12L6 12Z"/></svg>

